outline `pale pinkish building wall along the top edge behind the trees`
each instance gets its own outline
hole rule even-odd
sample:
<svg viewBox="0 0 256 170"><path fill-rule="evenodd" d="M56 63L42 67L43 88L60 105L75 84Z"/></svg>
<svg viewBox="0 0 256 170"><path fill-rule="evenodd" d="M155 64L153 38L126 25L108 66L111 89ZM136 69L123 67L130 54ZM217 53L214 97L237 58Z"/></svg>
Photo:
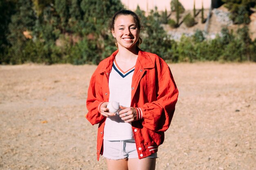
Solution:
<svg viewBox="0 0 256 170"><path fill-rule="evenodd" d="M194 0L179 0L183 7L188 9L194 8ZM213 0L216 1L216 0ZM121 2L130 10L136 10L137 5L143 11L150 11L157 7L158 11L171 11L171 0L121 0ZM204 9L209 9L211 6L211 0L195 0L195 8L201 9L202 2L204 4Z"/></svg>

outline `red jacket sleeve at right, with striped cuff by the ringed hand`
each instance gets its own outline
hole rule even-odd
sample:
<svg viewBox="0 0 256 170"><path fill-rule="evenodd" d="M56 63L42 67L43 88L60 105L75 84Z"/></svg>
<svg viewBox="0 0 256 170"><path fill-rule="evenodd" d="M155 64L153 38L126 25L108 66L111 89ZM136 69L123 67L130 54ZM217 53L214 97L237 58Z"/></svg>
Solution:
<svg viewBox="0 0 256 170"><path fill-rule="evenodd" d="M179 93L169 67L156 81L156 93L156 101L137 108L137 119L141 119L142 125L150 130L164 132L171 124Z"/></svg>

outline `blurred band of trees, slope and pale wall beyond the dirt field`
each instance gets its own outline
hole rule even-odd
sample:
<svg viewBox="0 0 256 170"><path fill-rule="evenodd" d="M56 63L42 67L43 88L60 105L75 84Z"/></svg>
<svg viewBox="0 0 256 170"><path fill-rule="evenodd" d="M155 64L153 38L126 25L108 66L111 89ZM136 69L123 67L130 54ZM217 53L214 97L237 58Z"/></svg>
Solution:
<svg viewBox="0 0 256 170"><path fill-rule="evenodd" d="M121 9L141 18L140 48L167 62L256 62L255 0L1 0L0 64L98 64L116 50Z"/></svg>

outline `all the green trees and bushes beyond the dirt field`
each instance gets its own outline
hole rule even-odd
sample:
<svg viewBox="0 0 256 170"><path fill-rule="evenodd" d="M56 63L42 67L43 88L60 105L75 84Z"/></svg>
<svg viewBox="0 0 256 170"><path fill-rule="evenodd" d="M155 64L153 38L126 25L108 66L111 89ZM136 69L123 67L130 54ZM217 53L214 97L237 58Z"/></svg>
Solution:
<svg viewBox="0 0 256 170"><path fill-rule="evenodd" d="M172 2L176 2L177 6L173 7L179 14L182 11L180 2ZM250 0L242 0L241 4L249 2L252 6ZM246 5L243 7L247 9ZM98 64L116 50L108 21L123 8L120 0L0 1L0 64ZM250 13L243 12L244 8L239 5L232 8L241 14L236 20L245 22L244 16ZM236 33L223 28L212 40L205 39L204 33L197 30L191 37L183 35L180 41L174 41L161 26L166 23L167 11L160 15L155 9L145 16L145 11L137 7L135 12L142 24L140 48L156 53L168 62L256 62L256 40L250 39L246 26ZM176 17L178 21L179 15ZM173 27L179 23L167 22ZM191 15L184 18L186 22L195 24Z"/></svg>

